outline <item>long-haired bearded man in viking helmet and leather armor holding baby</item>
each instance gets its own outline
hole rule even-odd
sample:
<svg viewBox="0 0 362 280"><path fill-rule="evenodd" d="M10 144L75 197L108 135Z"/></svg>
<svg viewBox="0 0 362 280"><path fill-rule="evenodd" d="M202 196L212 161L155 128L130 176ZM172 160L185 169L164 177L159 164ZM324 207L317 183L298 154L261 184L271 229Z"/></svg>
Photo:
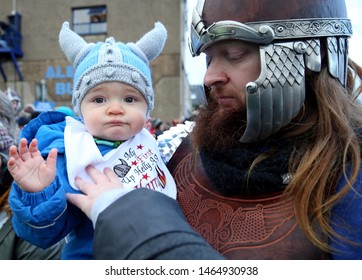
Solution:
<svg viewBox="0 0 362 280"><path fill-rule="evenodd" d="M362 69L348 58L351 35L344 0L198 1L190 46L206 54L207 105L158 137L177 185L168 217L181 208L227 259L362 259ZM92 209L103 256L124 230L118 211L141 196L169 201L113 190L100 196L114 195L107 207L84 193L69 199ZM132 215L141 228L145 209ZM112 256L137 251L118 237L127 253Z"/></svg>

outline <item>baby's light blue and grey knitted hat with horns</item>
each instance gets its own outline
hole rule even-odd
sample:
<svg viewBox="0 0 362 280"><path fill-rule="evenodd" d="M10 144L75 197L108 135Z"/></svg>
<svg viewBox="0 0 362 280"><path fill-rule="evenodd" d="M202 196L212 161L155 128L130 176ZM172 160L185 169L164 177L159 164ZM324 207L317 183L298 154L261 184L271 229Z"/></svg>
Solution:
<svg viewBox="0 0 362 280"><path fill-rule="evenodd" d="M87 43L69 29L64 22L59 33L59 43L64 54L74 66L74 111L82 116L80 104L87 92L104 82L122 82L138 89L145 97L148 114L154 107L154 93L150 61L163 50L167 31L162 23L136 43L116 42L113 37L105 42Z"/></svg>

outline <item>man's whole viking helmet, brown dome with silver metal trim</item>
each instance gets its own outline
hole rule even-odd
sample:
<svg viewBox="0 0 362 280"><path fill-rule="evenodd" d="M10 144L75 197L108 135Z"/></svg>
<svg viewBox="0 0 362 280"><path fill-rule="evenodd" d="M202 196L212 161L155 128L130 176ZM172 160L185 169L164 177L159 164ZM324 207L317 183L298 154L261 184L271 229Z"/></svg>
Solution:
<svg viewBox="0 0 362 280"><path fill-rule="evenodd" d="M230 39L260 45L260 76L246 85L247 126L240 141L248 143L297 115L305 100L305 68L319 72L326 61L331 76L346 85L351 35L344 0L198 0L190 49L197 56Z"/></svg>

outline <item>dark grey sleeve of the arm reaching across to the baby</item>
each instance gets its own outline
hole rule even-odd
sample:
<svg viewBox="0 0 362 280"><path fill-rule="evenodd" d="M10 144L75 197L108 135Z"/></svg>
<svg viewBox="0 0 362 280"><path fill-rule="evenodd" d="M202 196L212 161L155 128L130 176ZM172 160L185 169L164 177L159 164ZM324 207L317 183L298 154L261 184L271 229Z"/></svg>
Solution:
<svg viewBox="0 0 362 280"><path fill-rule="evenodd" d="M127 259L142 244L175 232L197 235L177 201L156 191L137 189L99 214L94 232L94 256Z"/></svg>

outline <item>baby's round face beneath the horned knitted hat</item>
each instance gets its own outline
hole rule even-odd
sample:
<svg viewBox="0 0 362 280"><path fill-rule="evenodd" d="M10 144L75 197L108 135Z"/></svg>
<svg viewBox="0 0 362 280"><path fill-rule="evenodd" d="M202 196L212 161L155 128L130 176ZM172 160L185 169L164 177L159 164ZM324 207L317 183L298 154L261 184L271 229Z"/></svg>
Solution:
<svg viewBox="0 0 362 280"><path fill-rule="evenodd" d="M106 82L92 88L80 109L88 131L110 141L130 139L147 121L147 102L143 95L120 82Z"/></svg>

